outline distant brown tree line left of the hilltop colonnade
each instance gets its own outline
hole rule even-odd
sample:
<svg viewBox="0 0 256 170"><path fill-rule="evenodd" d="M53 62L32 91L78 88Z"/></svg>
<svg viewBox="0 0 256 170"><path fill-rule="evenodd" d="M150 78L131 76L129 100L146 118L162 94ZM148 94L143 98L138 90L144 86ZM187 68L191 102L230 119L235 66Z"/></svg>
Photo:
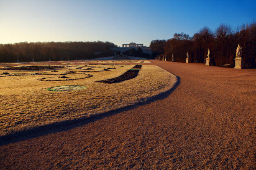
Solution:
<svg viewBox="0 0 256 170"><path fill-rule="evenodd" d="M19 42L0 44L0 62L83 60L113 55L111 42Z"/></svg>

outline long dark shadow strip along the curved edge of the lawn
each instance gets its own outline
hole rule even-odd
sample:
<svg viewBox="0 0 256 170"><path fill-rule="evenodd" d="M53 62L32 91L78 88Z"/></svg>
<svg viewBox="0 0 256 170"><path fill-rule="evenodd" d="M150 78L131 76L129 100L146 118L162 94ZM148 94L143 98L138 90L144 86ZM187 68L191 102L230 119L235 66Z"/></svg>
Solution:
<svg viewBox="0 0 256 170"><path fill-rule="evenodd" d="M135 105L130 105L130 106L126 106L117 110L111 110L109 112L105 112L102 113L100 115L96 115L95 117L89 117L89 118L80 118L77 120L66 120L63 122L56 122L56 123L52 123L49 125L44 125L44 126L40 126L40 127L35 127L33 129L30 130L24 130L21 132L16 132L10 135L6 135L6 136L1 136L0 137L0 146L1 145L8 145L10 143L15 143L15 142L19 142L19 141L24 141L30 138L36 138L42 135L47 135L50 133L58 133L58 132L62 132L62 131L66 131L66 130L71 130L73 128L77 128L79 126L82 125L86 125L90 122L94 122L100 119L103 119L105 117L111 116L111 115L116 115L120 112L124 112L127 110L131 110L134 109L140 105L144 105L144 104L148 104L157 100L162 100L165 99L166 97L168 97L175 89L176 87L179 85L180 83L180 78L178 76L177 77L177 82L174 84L174 86L163 93L160 93L159 95L156 95L155 97L147 100L146 102L141 102Z"/></svg>

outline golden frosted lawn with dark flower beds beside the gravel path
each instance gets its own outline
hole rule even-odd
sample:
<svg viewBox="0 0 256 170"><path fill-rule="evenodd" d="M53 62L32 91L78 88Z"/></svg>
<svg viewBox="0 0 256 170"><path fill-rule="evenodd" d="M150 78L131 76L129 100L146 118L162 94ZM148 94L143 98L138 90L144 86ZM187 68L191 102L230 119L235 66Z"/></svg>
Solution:
<svg viewBox="0 0 256 170"><path fill-rule="evenodd" d="M133 79L112 84L96 82L118 77L133 66L116 65L115 69L109 71L90 72L93 75L92 77L68 81L38 81L38 79L44 77L48 80L66 79L59 78L63 75L72 79L81 78L84 76L84 72L82 72L84 70L76 69L78 65L72 65L72 67L60 68L58 72L54 73L58 75L47 75L52 70L47 72L38 70L39 75L1 77L0 136L49 125L54 122L84 119L144 102L170 90L177 81L174 75L160 67L143 65L138 75ZM84 68L87 67L89 66L84 65ZM111 66L90 65L90 67L103 70ZM29 73L25 71L10 70L8 72L10 74ZM72 73L67 74L70 71ZM66 88L67 86L69 86L68 89L82 88L78 86L70 87L70 85L81 85L87 88L85 90L69 91ZM57 88L57 86L59 87ZM63 91L47 90L50 87L56 87L55 90Z"/></svg>

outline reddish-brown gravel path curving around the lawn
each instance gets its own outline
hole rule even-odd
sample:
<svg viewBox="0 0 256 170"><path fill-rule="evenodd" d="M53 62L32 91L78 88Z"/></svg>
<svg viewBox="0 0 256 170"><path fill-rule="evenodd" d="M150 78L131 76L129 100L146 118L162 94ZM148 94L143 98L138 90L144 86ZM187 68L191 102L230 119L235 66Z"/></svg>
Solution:
<svg viewBox="0 0 256 170"><path fill-rule="evenodd" d="M10 139L0 169L256 169L256 69L151 62L179 77L175 89Z"/></svg>

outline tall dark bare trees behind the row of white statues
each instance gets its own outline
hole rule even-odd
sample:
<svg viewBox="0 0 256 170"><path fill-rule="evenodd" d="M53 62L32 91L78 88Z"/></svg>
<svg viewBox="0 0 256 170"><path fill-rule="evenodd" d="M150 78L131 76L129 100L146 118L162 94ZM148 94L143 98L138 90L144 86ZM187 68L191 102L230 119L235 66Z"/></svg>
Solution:
<svg viewBox="0 0 256 170"><path fill-rule="evenodd" d="M150 47L153 57L165 57L177 62L185 62L189 52L189 62L204 63L207 49L210 49L210 63L216 66L223 64L234 65L236 48L242 47L243 67L256 68L256 23L242 25L232 29L229 25L221 24L213 32L207 27L199 30L193 37L184 34L174 34L169 40L153 40Z"/></svg>

